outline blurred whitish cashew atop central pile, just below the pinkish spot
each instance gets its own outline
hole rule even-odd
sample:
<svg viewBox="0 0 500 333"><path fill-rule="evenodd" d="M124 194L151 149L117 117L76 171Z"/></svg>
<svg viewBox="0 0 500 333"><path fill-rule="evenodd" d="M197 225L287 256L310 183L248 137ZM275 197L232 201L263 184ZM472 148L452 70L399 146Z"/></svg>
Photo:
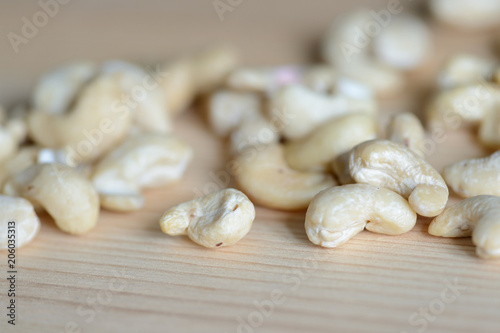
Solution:
<svg viewBox="0 0 500 333"><path fill-rule="evenodd" d="M287 139L306 136L325 121L348 113L375 115L377 104L372 99L355 99L344 95L329 96L304 86L291 85L273 96L270 118L281 122Z"/></svg>

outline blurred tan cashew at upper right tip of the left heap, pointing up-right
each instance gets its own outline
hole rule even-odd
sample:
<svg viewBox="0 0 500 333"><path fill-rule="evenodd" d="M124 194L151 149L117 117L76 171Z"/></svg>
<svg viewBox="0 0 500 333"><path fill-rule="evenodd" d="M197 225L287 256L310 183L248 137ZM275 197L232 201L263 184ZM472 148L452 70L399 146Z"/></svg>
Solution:
<svg viewBox="0 0 500 333"><path fill-rule="evenodd" d="M168 112L175 116L184 111L196 95L221 84L237 63L237 52L229 46L206 49L167 62L158 76Z"/></svg>

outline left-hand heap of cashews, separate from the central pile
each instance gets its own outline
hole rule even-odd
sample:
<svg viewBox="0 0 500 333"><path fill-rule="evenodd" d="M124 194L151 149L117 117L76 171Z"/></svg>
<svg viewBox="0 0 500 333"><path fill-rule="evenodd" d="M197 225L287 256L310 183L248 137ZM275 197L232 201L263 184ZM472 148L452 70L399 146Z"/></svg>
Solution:
<svg viewBox="0 0 500 333"><path fill-rule="evenodd" d="M237 63L227 46L151 68L70 63L43 75L27 105L0 108L0 248L8 222L17 223L18 247L34 238L44 211L60 230L83 235L101 208L137 211L143 189L178 182L193 149L173 133L174 119Z"/></svg>

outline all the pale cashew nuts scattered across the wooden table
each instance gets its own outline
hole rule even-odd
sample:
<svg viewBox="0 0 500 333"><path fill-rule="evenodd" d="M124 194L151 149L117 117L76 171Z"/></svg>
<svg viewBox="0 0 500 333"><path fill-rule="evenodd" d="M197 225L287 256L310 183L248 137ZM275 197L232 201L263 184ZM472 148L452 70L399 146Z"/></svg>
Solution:
<svg viewBox="0 0 500 333"><path fill-rule="evenodd" d="M430 0L430 12L461 29L497 22L496 2L459 2ZM45 74L28 107L0 109L1 223L18 221L24 245L40 229L41 211L80 235L95 227L101 208L142 209L144 189L178 181L192 160L173 128L197 99L227 147L235 188L168 208L164 233L207 248L234 245L250 232L255 204L305 211L305 232L322 247L364 229L400 235L422 216L433 218L431 235L472 236L480 257L500 257L499 63L449 58L426 105L426 127L412 112L380 126L380 100L405 89L407 73L424 66L433 47L423 19L389 9L390 19L358 10L336 20L322 41L324 63L238 66L224 46L154 73L108 61ZM426 161L427 133L465 127L498 151L441 174ZM465 200L447 207L450 190Z"/></svg>

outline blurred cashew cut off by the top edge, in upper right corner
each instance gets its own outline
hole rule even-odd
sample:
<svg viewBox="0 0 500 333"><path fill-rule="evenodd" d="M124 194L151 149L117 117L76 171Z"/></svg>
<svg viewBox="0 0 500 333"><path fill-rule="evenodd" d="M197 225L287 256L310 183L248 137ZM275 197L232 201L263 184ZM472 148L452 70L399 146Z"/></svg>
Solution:
<svg viewBox="0 0 500 333"><path fill-rule="evenodd" d="M439 21L461 29L485 29L498 24L496 0L430 0L430 11Z"/></svg>

